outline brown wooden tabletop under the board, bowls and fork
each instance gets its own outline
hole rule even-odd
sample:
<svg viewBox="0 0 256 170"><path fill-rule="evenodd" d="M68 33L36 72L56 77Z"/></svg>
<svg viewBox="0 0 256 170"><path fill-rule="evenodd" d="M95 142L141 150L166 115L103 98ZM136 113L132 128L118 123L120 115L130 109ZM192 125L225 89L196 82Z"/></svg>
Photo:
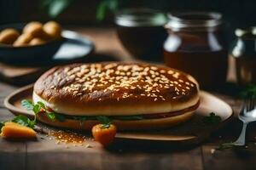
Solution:
<svg viewBox="0 0 256 170"><path fill-rule="evenodd" d="M77 28L96 44L96 54L108 54L122 60L131 56L121 47L113 29ZM232 77L231 73L231 76ZM4 108L3 99L18 87L0 82L0 121L13 115ZM241 100L232 97L230 86L212 92L229 103L235 115ZM196 145L173 145L124 141L108 150L87 141L91 147L56 144L40 134L38 141L0 139L0 170L34 169L256 169L256 125L247 129L247 145L228 150L213 150L219 144L234 141L241 130L236 116L212 133L207 141Z"/></svg>

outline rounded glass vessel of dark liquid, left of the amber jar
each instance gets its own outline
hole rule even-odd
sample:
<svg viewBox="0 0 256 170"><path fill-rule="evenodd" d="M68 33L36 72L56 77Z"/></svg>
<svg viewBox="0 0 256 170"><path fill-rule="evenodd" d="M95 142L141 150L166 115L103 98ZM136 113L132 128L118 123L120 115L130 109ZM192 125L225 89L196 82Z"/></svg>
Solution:
<svg viewBox="0 0 256 170"><path fill-rule="evenodd" d="M150 8L126 8L115 14L117 36L135 58L160 61L167 33L166 14Z"/></svg>

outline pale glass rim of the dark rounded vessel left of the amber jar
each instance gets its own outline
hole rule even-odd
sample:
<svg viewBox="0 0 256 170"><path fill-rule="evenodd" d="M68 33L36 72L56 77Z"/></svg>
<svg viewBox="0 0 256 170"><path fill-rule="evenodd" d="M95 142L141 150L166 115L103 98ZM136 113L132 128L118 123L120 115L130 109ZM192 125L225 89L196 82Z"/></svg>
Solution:
<svg viewBox="0 0 256 170"><path fill-rule="evenodd" d="M119 26L164 26L166 14L151 8L126 8L115 14Z"/></svg>

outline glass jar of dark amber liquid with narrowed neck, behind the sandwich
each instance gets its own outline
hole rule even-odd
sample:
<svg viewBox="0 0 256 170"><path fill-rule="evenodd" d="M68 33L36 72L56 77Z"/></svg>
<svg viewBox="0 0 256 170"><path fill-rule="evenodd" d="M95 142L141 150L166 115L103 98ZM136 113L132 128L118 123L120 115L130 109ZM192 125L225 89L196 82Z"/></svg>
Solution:
<svg viewBox="0 0 256 170"><path fill-rule="evenodd" d="M164 44L166 65L189 73L202 88L226 82L228 52L220 31L221 14L169 14Z"/></svg>

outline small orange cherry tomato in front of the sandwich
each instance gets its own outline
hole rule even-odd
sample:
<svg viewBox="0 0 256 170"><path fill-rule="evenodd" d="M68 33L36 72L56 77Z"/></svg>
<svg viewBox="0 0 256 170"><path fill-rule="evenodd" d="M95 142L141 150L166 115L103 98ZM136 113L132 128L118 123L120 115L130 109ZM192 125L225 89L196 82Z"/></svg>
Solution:
<svg viewBox="0 0 256 170"><path fill-rule="evenodd" d="M97 124L91 129L93 137L101 143L103 146L108 146L113 142L116 134L116 127L113 124L104 126L103 124Z"/></svg>

